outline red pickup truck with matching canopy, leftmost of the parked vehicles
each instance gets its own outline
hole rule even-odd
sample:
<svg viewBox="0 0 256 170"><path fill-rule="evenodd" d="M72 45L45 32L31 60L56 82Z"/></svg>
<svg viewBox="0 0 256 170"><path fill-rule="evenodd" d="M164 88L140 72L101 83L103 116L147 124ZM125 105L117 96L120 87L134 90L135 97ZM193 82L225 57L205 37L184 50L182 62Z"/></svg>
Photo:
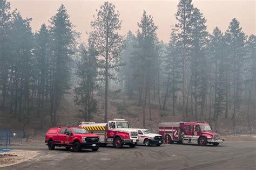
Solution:
<svg viewBox="0 0 256 170"><path fill-rule="evenodd" d="M45 135L45 143L49 150L64 146L67 150L72 147L75 152L80 152L83 148L98 151L100 145L97 134L80 127L50 128Z"/></svg>

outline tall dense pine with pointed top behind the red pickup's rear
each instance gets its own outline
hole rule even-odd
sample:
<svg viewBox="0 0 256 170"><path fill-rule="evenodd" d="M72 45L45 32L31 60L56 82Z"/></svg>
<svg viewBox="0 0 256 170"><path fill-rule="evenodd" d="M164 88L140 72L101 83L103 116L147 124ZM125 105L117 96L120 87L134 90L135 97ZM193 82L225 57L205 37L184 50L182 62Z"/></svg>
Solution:
<svg viewBox="0 0 256 170"><path fill-rule="evenodd" d="M79 35L73 30L74 25L62 4L55 16L50 19L51 42L51 118L56 125L57 108L64 92L69 89L71 56Z"/></svg>

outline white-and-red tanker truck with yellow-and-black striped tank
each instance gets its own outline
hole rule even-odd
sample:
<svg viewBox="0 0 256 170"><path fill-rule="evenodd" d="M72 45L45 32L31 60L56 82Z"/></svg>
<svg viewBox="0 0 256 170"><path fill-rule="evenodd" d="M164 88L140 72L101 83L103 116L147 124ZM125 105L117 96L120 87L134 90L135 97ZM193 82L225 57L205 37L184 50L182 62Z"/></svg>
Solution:
<svg viewBox="0 0 256 170"><path fill-rule="evenodd" d="M112 144L117 148L123 145L135 147L138 142L138 131L131 129L125 119L113 119L108 123L81 122L82 128L99 136L100 146Z"/></svg>

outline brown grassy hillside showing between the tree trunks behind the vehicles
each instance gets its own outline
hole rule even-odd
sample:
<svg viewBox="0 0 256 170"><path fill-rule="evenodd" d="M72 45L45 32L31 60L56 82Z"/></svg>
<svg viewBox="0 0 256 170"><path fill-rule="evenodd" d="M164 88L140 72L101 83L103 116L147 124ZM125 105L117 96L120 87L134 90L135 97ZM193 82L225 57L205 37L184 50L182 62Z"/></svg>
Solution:
<svg viewBox="0 0 256 170"><path fill-rule="evenodd" d="M92 120L95 122L103 122L104 121L104 100L100 91L96 94L96 99L98 102L98 111L93 115ZM171 103L171 102L170 102ZM179 101L177 101L179 106ZM146 109L146 128L152 129L153 131L158 131L158 123L160 122L179 122L181 121L181 108L178 107L176 110L176 115L173 116L171 114L170 105L167 105L165 110L160 110L158 107L158 101L153 101L151 104L151 112L152 112L152 120L149 120L149 108ZM69 91L68 94L65 94L62 102L60 104L60 108L57 112L57 126L77 126L80 121L84 121L83 117L78 113L78 107L73 102L73 93L72 90ZM255 112L255 110L253 110ZM14 118L12 114L8 114L8 110L2 110L0 112L0 129L11 129L11 130L28 130L31 134L34 134L35 131L39 130L39 124L42 122L43 129L42 134L46 129L48 129L50 124L50 116L48 116L48 109L44 110L44 118L39 120L37 117L37 112L34 111L31 113L31 121L29 124L22 124L18 121L18 119ZM204 115L202 117L202 121L208 122L208 112L209 110L204 111ZM213 112L213 110L212 110ZM230 111L232 112L232 111ZM241 116L241 112L246 112L246 107L241 106L241 109L238 112L237 118L237 133L240 134L248 134L247 128L247 118ZM255 115L251 114L251 129L253 133L256 133L256 121ZM233 119L231 119L232 114L229 115L228 118L224 118L224 116L220 116L219 118L219 133L223 135L228 135L233 133ZM118 93L114 95L110 95L109 98L109 119L113 118L124 118L130 122L132 127L143 128L143 120L142 120L142 107L138 106L137 98L129 98L123 93ZM186 121L194 121L194 116L189 112ZM212 126L214 129L214 121L212 120Z"/></svg>

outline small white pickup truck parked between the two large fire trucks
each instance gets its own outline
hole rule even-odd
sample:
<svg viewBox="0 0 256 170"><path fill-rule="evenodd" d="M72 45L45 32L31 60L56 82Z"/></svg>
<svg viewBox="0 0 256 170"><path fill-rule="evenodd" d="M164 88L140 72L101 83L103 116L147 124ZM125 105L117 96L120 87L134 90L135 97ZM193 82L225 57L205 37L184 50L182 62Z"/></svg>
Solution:
<svg viewBox="0 0 256 170"><path fill-rule="evenodd" d="M139 133L138 145L157 145L160 146L164 143L164 139L161 134L152 133L149 129L137 129Z"/></svg>

